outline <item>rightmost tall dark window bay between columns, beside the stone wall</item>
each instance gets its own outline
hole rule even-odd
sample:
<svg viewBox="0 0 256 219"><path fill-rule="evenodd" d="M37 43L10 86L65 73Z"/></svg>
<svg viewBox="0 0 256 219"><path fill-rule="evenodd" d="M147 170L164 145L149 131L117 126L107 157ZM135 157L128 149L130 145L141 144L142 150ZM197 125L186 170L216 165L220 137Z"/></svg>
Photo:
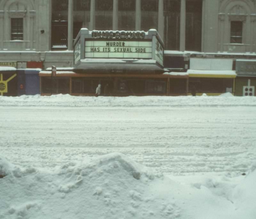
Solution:
<svg viewBox="0 0 256 219"><path fill-rule="evenodd" d="M186 1L186 42L187 51L201 51L202 42L202 0Z"/></svg>

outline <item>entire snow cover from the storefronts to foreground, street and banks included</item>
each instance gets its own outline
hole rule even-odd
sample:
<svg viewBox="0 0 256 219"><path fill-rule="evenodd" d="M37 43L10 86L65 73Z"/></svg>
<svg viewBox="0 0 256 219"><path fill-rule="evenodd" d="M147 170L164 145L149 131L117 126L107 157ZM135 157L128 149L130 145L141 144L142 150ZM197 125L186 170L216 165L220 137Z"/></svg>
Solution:
<svg viewBox="0 0 256 219"><path fill-rule="evenodd" d="M56 95L0 102L0 218L256 213L255 98Z"/></svg>

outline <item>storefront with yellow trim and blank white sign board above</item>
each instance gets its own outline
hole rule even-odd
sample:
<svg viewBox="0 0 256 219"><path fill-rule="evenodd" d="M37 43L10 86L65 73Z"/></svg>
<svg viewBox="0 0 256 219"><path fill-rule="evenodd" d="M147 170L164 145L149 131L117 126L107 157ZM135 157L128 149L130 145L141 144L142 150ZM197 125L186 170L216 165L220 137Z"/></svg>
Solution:
<svg viewBox="0 0 256 219"><path fill-rule="evenodd" d="M196 95L220 95L230 92L234 94L236 72L232 70L232 59L191 58L188 92L196 91Z"/></svg>

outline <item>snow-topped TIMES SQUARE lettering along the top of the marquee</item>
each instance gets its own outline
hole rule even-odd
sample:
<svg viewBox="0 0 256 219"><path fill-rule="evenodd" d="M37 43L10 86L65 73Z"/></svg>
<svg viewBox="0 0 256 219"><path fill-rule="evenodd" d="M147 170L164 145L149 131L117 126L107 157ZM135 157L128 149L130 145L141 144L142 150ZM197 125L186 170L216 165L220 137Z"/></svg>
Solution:
<svg viewBox="0 0 256 219"><path fill-rule="evenodd" d="M145 31L92 31L93 39L138 39L143 40Z"/></svg>

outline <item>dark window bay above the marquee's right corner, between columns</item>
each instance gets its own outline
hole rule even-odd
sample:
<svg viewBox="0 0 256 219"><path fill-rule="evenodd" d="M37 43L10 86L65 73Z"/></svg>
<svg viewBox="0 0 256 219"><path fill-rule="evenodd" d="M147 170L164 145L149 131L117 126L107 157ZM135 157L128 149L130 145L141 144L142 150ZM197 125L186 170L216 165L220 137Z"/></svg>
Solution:
<svg viewBox="0 0 256 219"><path fill-rule="evenodd" d="M158 0L141 0L141 30L157 30Z"/></svg>

